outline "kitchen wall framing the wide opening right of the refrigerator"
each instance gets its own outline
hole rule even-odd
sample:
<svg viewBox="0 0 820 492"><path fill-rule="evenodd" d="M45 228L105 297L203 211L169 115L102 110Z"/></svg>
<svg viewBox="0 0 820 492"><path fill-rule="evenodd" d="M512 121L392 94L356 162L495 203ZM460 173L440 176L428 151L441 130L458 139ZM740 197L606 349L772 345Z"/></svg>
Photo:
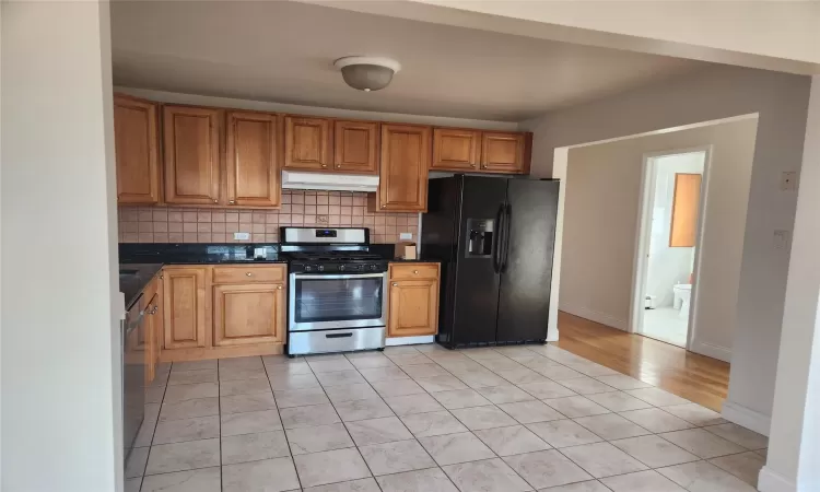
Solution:
<svg viewBox="0 0 820 492"><path fill-rule="evenodd" d="M780 191L778 185L784 171L800 169L810 82L808 77L716 67L523 125L536 133L532 173L550 177L555 149L759 115L724 412L749 425L755 421L763 431L774 397L788 267L788 249L775 249L773 236L775 230L793 230L797 204L797 194Z"/></svg>

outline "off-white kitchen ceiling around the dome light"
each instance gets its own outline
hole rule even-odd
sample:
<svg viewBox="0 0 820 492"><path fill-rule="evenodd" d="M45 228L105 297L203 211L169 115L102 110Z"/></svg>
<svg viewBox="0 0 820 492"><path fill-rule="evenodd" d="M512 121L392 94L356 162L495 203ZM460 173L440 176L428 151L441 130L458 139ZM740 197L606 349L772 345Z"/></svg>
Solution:
<svg viewBox="0 0 820 492"><path fill-rule="evenodd" d="M708 66L288 1L112 2L112 44L116 85L505 121ZM354 91L348 55L402 69Z"/></svg>

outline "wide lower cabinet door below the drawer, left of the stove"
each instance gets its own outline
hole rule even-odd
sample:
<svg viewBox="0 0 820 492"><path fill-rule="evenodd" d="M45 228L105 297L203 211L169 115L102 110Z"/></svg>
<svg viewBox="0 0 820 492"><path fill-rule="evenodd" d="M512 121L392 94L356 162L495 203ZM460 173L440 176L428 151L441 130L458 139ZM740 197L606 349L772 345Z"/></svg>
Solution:
<svg viewBox="0 0 820 492"><path fill-rule="evenodd" d="M281 283L214 285L213 344L281 343L285 309Z"/></svg>

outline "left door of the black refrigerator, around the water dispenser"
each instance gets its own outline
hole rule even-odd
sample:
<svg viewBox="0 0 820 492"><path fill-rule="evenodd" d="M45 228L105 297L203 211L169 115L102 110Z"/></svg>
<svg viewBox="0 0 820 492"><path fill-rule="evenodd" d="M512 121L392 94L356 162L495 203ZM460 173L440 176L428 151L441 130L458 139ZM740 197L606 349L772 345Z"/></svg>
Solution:
<svg viewBox="0 0 820 492"><path fill-rule="evenodd" d="M493 256L470 256L468 221L495 221L506 195L506 179L464 176L461 191L461 237L455 291L453 344L491 343L495 341L499 305L499 273ZM492 242L493 246L497 242ZM492 251L493 254L495 251Z"/></svg>

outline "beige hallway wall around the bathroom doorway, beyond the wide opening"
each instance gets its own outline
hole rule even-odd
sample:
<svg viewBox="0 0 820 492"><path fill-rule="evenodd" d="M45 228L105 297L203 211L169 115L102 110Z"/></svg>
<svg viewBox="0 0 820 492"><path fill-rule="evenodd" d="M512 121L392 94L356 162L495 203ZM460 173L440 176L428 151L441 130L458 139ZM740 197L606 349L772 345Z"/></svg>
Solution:
<svg viewBox="0 0 820 492"><path fill-rule="evenodd" d="M755 127L750 118L570 150L560 308L628 329L644 155L712 144L692 350L727 360Z"/></svg>

